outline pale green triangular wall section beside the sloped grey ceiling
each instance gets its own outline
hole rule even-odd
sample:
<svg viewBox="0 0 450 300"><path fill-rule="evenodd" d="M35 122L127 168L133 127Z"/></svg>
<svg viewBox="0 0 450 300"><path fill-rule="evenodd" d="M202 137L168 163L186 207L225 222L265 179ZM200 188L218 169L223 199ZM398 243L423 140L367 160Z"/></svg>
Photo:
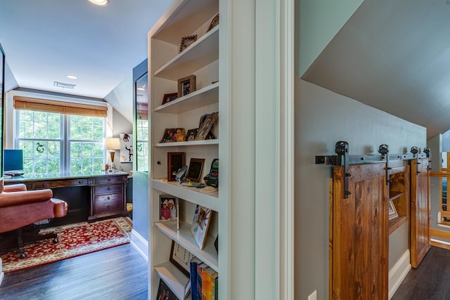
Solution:
<svg viewBox="0 0 450 300"><path fill-rule="evenodd" d="M299 77L323 51L363 0L297 0L300 16ZM297 17L299 18L299 17Z"/></svg>

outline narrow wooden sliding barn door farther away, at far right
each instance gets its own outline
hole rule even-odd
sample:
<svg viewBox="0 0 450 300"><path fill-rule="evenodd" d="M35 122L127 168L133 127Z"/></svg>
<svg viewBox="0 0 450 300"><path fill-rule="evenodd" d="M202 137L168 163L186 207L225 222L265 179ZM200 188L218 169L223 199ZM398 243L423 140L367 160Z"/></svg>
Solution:
<svg viewBox="0 0 450 300"><path fill-rule="evenodd" d="M411 160L411 266L417 268L430 249L430 177L428 158Z"/></svg>

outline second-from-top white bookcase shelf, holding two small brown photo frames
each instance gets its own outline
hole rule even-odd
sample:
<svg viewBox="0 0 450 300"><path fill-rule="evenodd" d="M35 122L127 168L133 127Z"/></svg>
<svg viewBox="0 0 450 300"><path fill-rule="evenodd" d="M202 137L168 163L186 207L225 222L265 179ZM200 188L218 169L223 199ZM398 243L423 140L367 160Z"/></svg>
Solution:
<svg viewBox="0 0 450 300"><path fill-rule="evenodd" d="M165 105L155 107L154 111L179 114L214 103L219 103L219 82L205 86L203 89L193 91L192 93L170 101Z"/></svg>

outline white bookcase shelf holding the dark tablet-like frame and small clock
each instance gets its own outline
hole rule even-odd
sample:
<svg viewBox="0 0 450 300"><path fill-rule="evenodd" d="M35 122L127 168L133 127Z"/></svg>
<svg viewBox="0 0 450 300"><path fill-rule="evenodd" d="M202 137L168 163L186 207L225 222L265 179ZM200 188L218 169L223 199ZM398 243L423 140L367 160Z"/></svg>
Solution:
<svg viewBox="0 0 450 300"><path fill-rule="evenodd" d="M166 181L165 179L152 179L150 181L150 187L219 212L218 191L212 193L205 192L201 188L189 188L179 185L176 181Z"/></svg>

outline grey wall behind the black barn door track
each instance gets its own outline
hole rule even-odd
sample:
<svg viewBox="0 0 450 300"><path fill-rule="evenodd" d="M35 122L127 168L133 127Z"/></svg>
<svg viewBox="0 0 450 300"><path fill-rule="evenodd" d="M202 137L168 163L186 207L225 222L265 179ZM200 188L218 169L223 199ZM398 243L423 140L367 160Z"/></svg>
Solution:
<svg viewBox="0 0 450 300"><path fill-rule="evenodd" d="M328 299L329 178L331 167L316 155L334 155L347 141L349 154L391 153L425 148L426 129L328 91L302 79L295 84L295 299ZM406 225L404 225L406 226ZM403 227L402 227L403 228ZM408 247L407 230L390 239L391 262Z"/></svg>

